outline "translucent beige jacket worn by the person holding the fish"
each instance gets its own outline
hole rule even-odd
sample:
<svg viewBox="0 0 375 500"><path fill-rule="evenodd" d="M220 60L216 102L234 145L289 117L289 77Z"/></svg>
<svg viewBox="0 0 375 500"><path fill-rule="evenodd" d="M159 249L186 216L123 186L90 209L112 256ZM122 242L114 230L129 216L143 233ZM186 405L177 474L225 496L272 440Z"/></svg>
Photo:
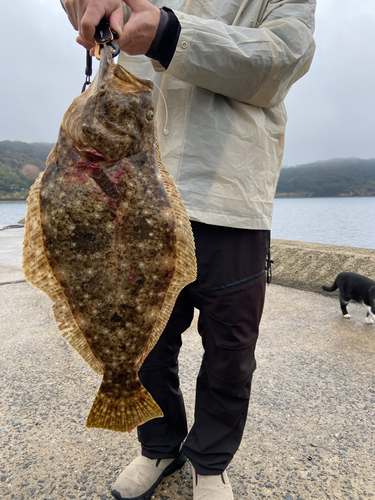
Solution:
<svg viewBox="0 0 375 500"><path fill-rule="evenodd" d="M123 52L119 63L162 91L154 97L163 164L191 219L270 229L283 101L313 58L316 0L151 3L173 9L181 24L168 70Z"/></svg>

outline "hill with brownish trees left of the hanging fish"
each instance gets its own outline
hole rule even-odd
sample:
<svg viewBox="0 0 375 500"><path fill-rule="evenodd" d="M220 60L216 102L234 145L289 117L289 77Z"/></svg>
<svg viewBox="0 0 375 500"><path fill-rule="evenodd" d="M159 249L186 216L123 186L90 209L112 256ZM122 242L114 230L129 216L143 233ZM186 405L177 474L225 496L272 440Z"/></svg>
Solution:
<svg viewBox="0 0 375 500"><path fill-rule="evenodd" d="M0 141L0 200L26 199L53 144Z"/></svg>

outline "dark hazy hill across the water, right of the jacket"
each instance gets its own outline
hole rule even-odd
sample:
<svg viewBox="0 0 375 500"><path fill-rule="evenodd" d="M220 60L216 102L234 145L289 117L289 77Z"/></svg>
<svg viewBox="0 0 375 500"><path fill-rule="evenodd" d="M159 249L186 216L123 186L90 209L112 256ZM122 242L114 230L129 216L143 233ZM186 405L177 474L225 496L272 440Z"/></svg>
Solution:
<svg viewBox="0 0 375 500"><path fill-rule="evenodd" d="M375 196L375 159L336 158L282 168L277 198Z"/></svg>

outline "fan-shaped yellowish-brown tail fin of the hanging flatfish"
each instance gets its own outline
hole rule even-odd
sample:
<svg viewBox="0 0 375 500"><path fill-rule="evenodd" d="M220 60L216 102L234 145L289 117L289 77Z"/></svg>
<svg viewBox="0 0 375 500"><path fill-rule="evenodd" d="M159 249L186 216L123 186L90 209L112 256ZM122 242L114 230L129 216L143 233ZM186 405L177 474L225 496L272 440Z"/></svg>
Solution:
<svg viewBox="0 0 375 500"><path fill-rule="evenodd" d="M136 392L113 397L99 389L92 404L86 427L129 432L153 418L163 417L151 394L139 384Z"/></svg>

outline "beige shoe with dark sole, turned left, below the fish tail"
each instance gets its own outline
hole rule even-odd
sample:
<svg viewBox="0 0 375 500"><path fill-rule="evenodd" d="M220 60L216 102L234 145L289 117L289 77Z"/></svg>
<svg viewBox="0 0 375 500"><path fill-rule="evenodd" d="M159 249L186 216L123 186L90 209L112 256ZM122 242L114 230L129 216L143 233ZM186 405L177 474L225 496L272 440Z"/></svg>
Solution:
<svg viewBox="0 0 375 500"><path fill-rule="evenodd" d="M137 457L121 472L111 493L116 500L148 500L163 477L180 469L186 460L183 454L163 459Z"/></svg>

